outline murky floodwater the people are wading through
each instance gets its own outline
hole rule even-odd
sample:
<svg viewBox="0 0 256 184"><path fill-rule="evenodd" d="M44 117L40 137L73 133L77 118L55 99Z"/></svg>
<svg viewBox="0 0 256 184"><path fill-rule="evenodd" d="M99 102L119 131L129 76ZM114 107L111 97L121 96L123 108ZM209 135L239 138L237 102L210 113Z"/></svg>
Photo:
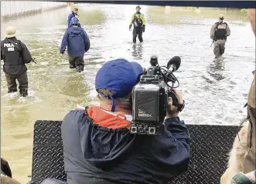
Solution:
<svg viewBox="0 0 256 184"><path fill-rule="evenodd" d="M111 59L125 58L148 67L151 55L158 55L160 65L178 55L182 64L175 74L186 101L180 117L188 124L237 125L246 115L243 105L255 69L255 38L246 13L142 6L147 20L145 42L134 45L128 25L135 5L78 7L91 43L81 74L69 69L67 54L63 57L59 53L70 8L2 22L2 39L5 28L14 25L19 30L17 38L26 43L37 62L28 65L26 99L6 94L1 71L1 153L20 182L26 183L31 173L34 122L62 120L69 110L96 103L95 73ZM210 28L220 13L227 14L231 35L223 59L214 60Z"/></svg>

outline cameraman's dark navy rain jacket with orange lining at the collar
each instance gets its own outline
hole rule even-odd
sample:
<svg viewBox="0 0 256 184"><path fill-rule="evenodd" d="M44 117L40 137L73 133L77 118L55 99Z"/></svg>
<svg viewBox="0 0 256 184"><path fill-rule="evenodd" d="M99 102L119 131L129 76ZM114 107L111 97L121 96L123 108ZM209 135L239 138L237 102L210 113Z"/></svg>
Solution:
<svg viewBox="0 0 256 184"><path fill-rule="evenodd" d="M87 112L71 111L63 119L68 184L162 184L188 168L189 132L179 117L166 119L163 135L147 136L97 124L121 125L97 107Z"/></svg>

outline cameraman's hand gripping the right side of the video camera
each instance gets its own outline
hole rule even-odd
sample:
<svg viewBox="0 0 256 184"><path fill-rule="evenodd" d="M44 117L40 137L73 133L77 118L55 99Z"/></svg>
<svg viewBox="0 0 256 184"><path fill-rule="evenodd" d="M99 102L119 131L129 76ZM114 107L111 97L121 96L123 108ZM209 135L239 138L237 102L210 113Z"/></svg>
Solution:
<svg viewBox="0 0 256 184"><path fill-rule="evenodd" d="M183 104L183 95L181 94L181 92L179 92L176 89L173 89L173 91L176 93L176 96L178 97L178 103ZM178 115L179 115L178 107L172 105L172 98L169 98L166 118L174 118L174 117L177 117Z"/></svg>

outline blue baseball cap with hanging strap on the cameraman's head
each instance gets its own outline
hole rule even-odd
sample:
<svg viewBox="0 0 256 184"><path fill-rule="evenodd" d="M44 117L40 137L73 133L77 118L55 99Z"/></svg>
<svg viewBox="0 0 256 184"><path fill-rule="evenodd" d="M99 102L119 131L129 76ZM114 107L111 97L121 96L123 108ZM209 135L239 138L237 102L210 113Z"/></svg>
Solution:
<svg viewBox="0 0 256 184"><path fill-rule="evenodd" d="M126 59L114 59L106 62L99 69L95 79L95 89L108 89L114 93L109 96L112 100L112 112L115 109L114 99L127 96L142 72L141 65L137 62L128 62Z"/></svg>

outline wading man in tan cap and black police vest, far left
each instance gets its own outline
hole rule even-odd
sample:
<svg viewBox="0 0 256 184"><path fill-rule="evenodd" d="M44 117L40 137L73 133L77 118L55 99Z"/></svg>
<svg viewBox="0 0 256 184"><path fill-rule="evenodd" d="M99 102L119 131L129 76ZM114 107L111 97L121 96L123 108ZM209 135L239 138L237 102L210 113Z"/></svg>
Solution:
<svg viewBox="0 0 256 184"><path fill-rule="evenodd" d="M17 92L16 79L19 82L19 93L28 95L28 76L26 65L32 62L32 56L26 45L15 37L15 28L6 28L6 38L1 41L1 60L4 60L3 70L8 83L8 92Z"/></svg>

